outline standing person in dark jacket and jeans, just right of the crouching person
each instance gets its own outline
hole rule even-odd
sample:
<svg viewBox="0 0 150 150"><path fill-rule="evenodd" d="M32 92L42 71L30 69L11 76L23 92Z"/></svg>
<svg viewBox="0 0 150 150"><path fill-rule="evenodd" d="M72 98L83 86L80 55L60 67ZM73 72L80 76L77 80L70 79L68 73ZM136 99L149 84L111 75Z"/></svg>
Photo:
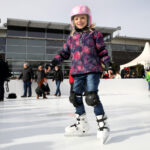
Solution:
<svg viewBox="0 0 150 150"><path fill-rule="evenodd" d="M63 81L63 73L58 66L55 66L54 76L52 81L56 81L55 96L61 96L60 84Z"/></svg>

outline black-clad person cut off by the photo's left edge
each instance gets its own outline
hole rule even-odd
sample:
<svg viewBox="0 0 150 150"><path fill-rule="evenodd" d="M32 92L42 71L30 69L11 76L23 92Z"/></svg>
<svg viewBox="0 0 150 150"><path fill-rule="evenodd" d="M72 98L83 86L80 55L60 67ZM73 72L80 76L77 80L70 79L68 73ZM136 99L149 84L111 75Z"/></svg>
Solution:
<svg viewBox="0 0 150 150"><path fill-rule="evenodd" d="M10 77L8 64L0 57L0 101L4 101L4 82Z"/></svg>

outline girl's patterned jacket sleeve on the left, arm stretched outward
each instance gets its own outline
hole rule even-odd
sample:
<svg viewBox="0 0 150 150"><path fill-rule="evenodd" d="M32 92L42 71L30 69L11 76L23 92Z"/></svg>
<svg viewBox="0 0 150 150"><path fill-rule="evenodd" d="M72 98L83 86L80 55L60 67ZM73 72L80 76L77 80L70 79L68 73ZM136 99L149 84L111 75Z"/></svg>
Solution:
<svg viewBox="0 0 150 150"><path fill-rule="evenodd" d="M59 53L54 57L52 63L54 66L60 64L64 60L68 60L70 57L70 38L68 37L66 43L64 43L63 48Z"/></svg>

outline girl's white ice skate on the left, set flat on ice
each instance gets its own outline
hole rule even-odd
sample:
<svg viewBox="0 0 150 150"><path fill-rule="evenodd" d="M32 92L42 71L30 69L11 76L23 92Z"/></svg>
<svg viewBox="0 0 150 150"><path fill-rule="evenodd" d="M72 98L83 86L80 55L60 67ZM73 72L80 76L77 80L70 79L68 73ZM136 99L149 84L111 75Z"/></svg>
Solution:
<svg viewBox="0 0 150 150"><path fill-rule="evenodd" d="M89 130L86 115L76 114L77 122L65 128L65 136L84 136Z"/></svg>

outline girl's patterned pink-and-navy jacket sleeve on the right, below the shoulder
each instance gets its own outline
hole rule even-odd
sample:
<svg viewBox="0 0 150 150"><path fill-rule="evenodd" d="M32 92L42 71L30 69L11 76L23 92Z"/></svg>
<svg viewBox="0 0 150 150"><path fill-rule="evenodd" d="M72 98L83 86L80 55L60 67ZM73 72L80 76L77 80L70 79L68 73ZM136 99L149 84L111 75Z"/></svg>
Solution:
<svg viewBox="0 0 150 150"><path fill-rule="evenodd" d="M95 31L94 39L100 60L104 65L107 65L110 62L110 57L108 56L108 50L106 49L102 33Z"/></svg>

